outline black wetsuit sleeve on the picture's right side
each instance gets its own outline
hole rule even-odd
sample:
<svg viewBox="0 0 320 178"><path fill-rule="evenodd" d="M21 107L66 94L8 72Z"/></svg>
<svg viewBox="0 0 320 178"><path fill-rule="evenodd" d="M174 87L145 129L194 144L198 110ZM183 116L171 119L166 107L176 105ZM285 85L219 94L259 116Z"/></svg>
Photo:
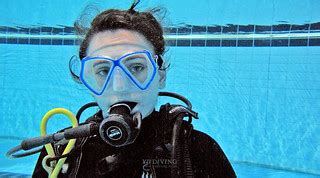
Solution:
<svg viewBox="0 0 320 178"><path fill-rule="evenodd" d="M236 174L219 144L205 133L193 130L191 157L196 177L233 178Z"/></svg>

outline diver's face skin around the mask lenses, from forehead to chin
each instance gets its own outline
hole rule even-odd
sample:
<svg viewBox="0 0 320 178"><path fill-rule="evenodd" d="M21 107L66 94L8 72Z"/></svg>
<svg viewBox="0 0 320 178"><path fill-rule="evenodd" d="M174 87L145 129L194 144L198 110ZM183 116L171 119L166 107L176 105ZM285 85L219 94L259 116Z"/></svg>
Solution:
<svg viewBox="0 0 320 178"><path fill-rule="evenodd" d="M104 56L118 59L125 54L143 50L151 52L151 55L154 56L153 46L140 33L125 29L108 30L99 32L92 37L88 46L87 56ZM140 70L139 66L134 69ZM139 76L137 78L139 80ZM158 67L154 79L145 90L136 87L128 76L123 75L123 71L116 67L105 91L102 95L94 95L94 97L102 109L104 117L108 115L107 111L113 104L134 102L136 106L131 114L140 112L142 118L145 118L153 111L156 105L158 89L164 86L165 72L158 70Z"/></svg>

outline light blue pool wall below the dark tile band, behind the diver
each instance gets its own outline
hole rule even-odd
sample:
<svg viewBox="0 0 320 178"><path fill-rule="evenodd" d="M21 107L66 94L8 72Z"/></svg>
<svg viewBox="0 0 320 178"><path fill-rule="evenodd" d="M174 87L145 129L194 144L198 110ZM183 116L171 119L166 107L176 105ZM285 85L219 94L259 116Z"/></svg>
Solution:
<svg viewBox="0 0 320 178"><path fill-rule="evenodd" d="M3 76L2 88L5 94L0 96L2 137L35 137L39 134L40 120L48 110L65 107L76 113L81 105L92 101L86 90L73 83L68 74L67 59L74 49L75 47L72 46L46 45L6 45L0 48L0 52L7 59L1 65L4 67L2 72L5 71L6 74ZM271 66L275 68L269 72L266 64L269 60L272 61L273 57L264 55L259 57L259 60L255 60L252 54L249 56L246 54L251 51L251 48L236 50L190 48L187 51L171 49L171 57L175 59L172 61L171 71L178 72L168 75L167 88L169 91L177 91L187 96L192 101L194 109L199 112L201 118L194 122L195 128L215 138L231 161L250 161L258 165L291 167L297 171L317 173L319 171L317 150L320 140L319 134L316 134L319 133L320 128L315 124L318 118L316 116L319 114L316 110L319 103L316 89L318 83L308 80L305 83L299 80L296 83L290 83L286 79L277 79L281 75L287 77L292 75L301 80L305 77L313 79L317 74L313 70L319 69L313 66L320 63L318 64L318 59L315 58L318 55L318 48L312 49L310 47L269 49L275 54L275 59L281 59L288 52L291 52L290 60L292 61L305 59L305 64L300 64L305 68L297 65L298 68L283 69L283 64L275 63ZM27 55L25 51L28 51ZM213 56L210 60L218 62L209 65L209 58L201 53L202 51ZM308 52L308 55L302 56L297 51ZM250 53L260 55L267 52L265 48L254 48ZM243 56L256 61L257 64L250 63L250 70L242 71L246 64L242 64L241 60L247 60ZM186 59L188 59L187 66L183 63ZM289 58L284 59L287 63L291 63ZM232 63L229 62L230 60L238 62ZM178 68L179 65L184 65L185 68ZM295 65L291 66L295 67ZM238 66L241 67L238 72L231 70ZM259 68L256 68L258 66ZM193 71L192 75L189 75L188 70ZM288 70L293 71L288 72ZM201 71L210 72L203 74ZM304 75L300 76L301 74ZM217 78L210 78L212 76ZM201 77L203 81L196 80ZM264 79L268 77L271 78L269 82ZM286 88L288 84L291 84L291 87ZM285 88L281 88L282 86ZM301 87L315 88L299 89ZM192 95L194 92L198 94ZM214 102L208 103L207 97ZM160 99L161 103L166 101L168 100ZM87 115L92 113L89 112ZM308 119L302 119L306 117ZM59 130L68 126L68 123L67 120L61 122L61 118L55 118L50 121L49 130L51 132ZM3 144L6 145L5 140L1 141L1 145ZM19 161L4 160L4 158L1 160L4 166L17 163L16 166L24 167L23 164L19 164ZM16 169L15 166L5 168L8 170L3 171ZM238 166L240 175L242 168L243 166ZM250 167L244 166L244 168ZM25 169L17 168L18 172L23 170ZM257 170L271 171L264 168ZM283 172L280 171L279 174Z"/></svg>

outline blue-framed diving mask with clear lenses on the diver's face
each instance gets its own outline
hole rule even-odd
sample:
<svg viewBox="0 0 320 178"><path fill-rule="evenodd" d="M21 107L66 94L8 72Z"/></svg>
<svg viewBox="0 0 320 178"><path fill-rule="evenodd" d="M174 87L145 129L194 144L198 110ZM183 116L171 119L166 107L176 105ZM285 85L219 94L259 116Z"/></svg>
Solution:
<svg viewBox="0 0 320 178"><path fill-rule="evenodd" d="M156 75L156 58L147 50L137 51L112 59L105 56L85 57L81 60L80 80L94 94L102 95L116 72L140 90L145 90Z"/></svg>

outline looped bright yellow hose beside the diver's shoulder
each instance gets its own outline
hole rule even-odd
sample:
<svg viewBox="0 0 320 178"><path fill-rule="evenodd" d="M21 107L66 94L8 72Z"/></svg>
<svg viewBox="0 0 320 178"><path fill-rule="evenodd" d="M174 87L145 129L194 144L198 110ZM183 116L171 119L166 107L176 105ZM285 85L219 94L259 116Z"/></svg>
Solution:
<svg viewBox="0 0 320 178"><path fill-rule="evenodd" d="M50 111L48 111L42 118L41 124L40 124L40 134L41 136L47 135L47 123L50 117L52 117L55 114L64 114L66 116L68 116L68 118L70 119L71 123L72 123L72 127L77 127L78 126L78 121L76 119L76 117L67 109L64 108L55 108L52 109ZM71 151L71 149L73 148L74 144L76 143L76 139L71 139L69 140L67 147L65 148L65 150L63 151L62 155L65 155L67 153L69 153ZM54 151L52 148L52 145L50 143L45 145L45 148L48 152L48 157L54 157ZM47 157L47 158L48 158ZM46 158L46 159L47 159ZM44 159L44 160L46 160ZM50 178L56 178L62 168L63 163L65 162L67 158L61 158L59 159L57 165L54 167L54 169L50 169L48 168L48 166L46 166L46 161L42 162L42 166L44 167L44 169L48 172L49 177ZM44 166L45 164L45 166Z"/></svg>

